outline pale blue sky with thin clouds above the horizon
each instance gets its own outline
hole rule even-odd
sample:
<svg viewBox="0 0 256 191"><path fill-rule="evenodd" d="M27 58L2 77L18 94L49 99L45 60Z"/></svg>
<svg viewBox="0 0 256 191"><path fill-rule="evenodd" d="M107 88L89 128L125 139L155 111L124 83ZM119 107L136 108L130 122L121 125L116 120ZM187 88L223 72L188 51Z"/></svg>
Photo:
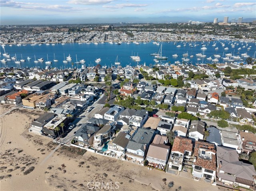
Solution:
<svg viewBox="0 0 256 191"><path fill-rule="evenodd" d="M256 18L255 0L0 0L0 24L213 21Z"/></svg>

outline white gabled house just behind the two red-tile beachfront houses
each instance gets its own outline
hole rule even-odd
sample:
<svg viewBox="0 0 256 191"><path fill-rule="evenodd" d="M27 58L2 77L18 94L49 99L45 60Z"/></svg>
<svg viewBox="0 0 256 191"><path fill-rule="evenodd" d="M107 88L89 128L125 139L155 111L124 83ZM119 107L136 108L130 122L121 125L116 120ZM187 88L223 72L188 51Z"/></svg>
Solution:
<svg viewBox="0 0 256 191"><path fill-rule="evenodd" d="M204 140L204 126L205 124L202 121L191 121L188 138L192 139L193 142Z"/></svg>

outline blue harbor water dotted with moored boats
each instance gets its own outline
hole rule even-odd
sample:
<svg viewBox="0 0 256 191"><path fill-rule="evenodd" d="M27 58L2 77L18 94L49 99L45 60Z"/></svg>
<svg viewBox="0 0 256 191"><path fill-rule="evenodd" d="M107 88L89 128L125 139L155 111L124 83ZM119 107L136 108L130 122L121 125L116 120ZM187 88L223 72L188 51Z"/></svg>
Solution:
<svg viewBox="0 0 256 191"><path fill-rule="evenodd" d="M242 41L228 41L228 40L220 40L220 41L210 41L210 42L202 42L202 41L193 41L193 42L181 42L177 41L176 44L174 44L174 41L167 42L159 42L160 45L156 45L152 42L142 43L140 42L140 45L136 45L134 43L127 44L126 42L123 42L121 45L117 45L115 43L110 44L106 42L105 44L99 43L98 45L94 43L90 44L78 44L78 43L66 43L62 45L61 43L56 43L56 45L34 45L31 46L30 44L27 45L5 45L5 51L6 53L9 53L11 57L13 57L16 54L16 57L18 60L21 59L21 56L23 59L26 59L24 63L15 64L14 61L7 61L5 64L0 63L1 67L42 67L45 68L46 65L45 62L43 63L34 63L34 55L36 56L36 59L44 58L45 61L47 61L47 54L48 54L48 60L52 61L51 67L62 67L62 68L69 68L72 67L72 62L76 62L76 55L77 60L80 61L81 59L84 59L86 61L85 65L86 67L92 67L96 66L97 63L95 60L97 58L101 58L100 65L102 66L114 66L114 63L116 61L116 57L118 56L118 62L121 63L121 66L126 65L142 65L146 63L146 65L155 65L156 62L154 61L154 56L150 55L151 53L158 53L160 50L160 46L162 44L162 56L168 57L167 60L160 60L159 63L172 63L174 64L175 61L180 61L182 63L182 54L188 53L188 58L190 61L187 61L186 63L192 63L193 65L197 63L212 63L212 61L207 60L207 57L212 57L214 59L214 54L219 54L221 57L225 57L226 53L232 53L232 55L240 55L242 53L247 53L250 55L250 57L254 57L254 53L256 51L255 43L246 43ZM194 47L190 47L189 44L192 44ZM214 43L216 43L216 46L212 46ZM224 43L225 46L222 46L222 43ZM234 44L236 43L236 44ZM201 49L202 45L205 45L207 48L206 50ZM235 47L233 48L231 44L234 44ZM177 45L181 45L181 47L177 47ZM185 45L185 46L184 46ZM195 46L196 45L196 46ZM245 46L243 48L243 46ZM218 47L218 50L215 48ZM224 48L228 47L228 50L224 50ZM250 50L248 48L250 47ZM238 48L241 48L238 50ZM4 53L4 49L1 46L1 53ZM204 58L197 57L197 53L202 53L206 55ZM58 62L53 62L54 54L56 59L58 59ZM68 63L64 64L62 61L64 60L64 54L65 57L70 55L72 57L72 61L69 61ZM178 57L173 57L173 54L177 54ZM141 61L136 62L130 58L131 55L139 55ZM194 57L190 57L190 55L194 55ZM224 55L224 56L223 56ZM27 60L27 57L31 57L31 60ZM1 59L3 59L3 55L1 54ZM198 60L200 58L200 60ZM242 60L236 60L236 61L243 61L246 58ZM222 63L223 59L219 59L219 63ZM216 63L216 62L215 62ZM81 65L74 65L74 67L81 67Z"/></svg>

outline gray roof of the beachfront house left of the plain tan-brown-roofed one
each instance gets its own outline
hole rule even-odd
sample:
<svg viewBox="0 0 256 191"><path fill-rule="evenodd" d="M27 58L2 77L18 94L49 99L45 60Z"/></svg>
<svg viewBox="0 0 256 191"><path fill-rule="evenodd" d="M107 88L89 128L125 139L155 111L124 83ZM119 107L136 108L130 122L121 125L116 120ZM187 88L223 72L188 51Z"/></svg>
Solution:
<svg viewBox="0 0 256 191"><path fill-rule="evenodd" d="M149 144L154 136L154 132L153 129L138 128L132 140L141 144Z"/></svg>

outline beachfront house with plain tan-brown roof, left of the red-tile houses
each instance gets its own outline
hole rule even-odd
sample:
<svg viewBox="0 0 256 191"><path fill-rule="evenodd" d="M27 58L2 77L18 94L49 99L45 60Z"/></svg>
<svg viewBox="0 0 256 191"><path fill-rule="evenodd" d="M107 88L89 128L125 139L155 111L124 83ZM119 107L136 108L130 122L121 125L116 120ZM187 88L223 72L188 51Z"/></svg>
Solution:
<svg viewBox="0 0 256 191"><path fill-rule="evenodd" d="M164 169L168 162L170 146L166 145L167 137L156 135L148 148L146 160L155 167Z"/></svg>

